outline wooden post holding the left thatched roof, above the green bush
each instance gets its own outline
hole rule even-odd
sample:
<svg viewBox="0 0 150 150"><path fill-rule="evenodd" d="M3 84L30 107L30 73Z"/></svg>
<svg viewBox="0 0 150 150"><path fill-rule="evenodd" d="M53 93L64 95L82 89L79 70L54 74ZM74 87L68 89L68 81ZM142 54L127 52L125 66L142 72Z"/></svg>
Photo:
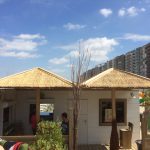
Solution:
<svg viewBox="0 0 150 150"><path fill-rule="evenodd" d="M36 121L40 121L40 88L36 89Z"/></svg>

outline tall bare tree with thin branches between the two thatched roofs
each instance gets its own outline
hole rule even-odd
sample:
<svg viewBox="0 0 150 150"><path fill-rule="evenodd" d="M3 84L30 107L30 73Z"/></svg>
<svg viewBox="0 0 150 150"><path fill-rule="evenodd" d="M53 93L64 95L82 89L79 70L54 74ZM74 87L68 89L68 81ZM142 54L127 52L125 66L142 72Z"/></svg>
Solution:
<svg viewBox="0 0 150 150"><path fill-rule="evenodd" d="M73 83L73 121L74 121L74 150L78 149L78 118L80 111L80 95L82 91L82 81L86 77L86 71L90 62L90 51L79 50L77 57L71 59L71 80Z"/></svg>

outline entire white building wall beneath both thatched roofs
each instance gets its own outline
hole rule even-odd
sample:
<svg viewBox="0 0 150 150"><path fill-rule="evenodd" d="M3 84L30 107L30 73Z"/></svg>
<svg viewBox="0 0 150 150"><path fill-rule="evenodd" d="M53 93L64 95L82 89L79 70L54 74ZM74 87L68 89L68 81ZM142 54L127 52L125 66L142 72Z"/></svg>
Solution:
<svg viewBox="0 0 150 150"><path fill-rule="evenodd" d="M116 98L127 99L127 122L134 124L133 142L140 138L140 118L139 104L137 99L131 97L130 91L117 91ZM137 95L137 92L135 92ZM36 93L34 90L18 90L16 99L16 121L22 122L24 133L31 134L31 125L29 123L29 106L35 103ZM84 127L79 128L80 144L109 144L111 126L99 126L99 99L111 98L110 91L83 91L81 99L86 100L87 104L82 105L82 119L87 122L87 140L81 139ZM68 112L69 100L72 99L72 91L45 91L45 99L41 103L54 103L54 120L61 119L62 112ZM87 107L87 108L86 108ZM83 111L84 110L84 111ZM86 114L87 112L87 114ZM1 114L1 113L0 113ZM81 120L80 120L81 121ZM124 126L119 126L125 128ZM119 132L118 132L119 133Z"/></svg>

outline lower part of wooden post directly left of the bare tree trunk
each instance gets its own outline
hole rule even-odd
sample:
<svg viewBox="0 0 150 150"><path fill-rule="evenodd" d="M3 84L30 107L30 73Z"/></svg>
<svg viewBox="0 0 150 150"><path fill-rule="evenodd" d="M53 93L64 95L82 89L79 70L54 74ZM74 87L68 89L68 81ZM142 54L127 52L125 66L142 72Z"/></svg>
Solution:
<svg viewBox="0 0 150 150"><path fill-rule="evenodd" d="M73 150L73 109L69 108L69 150Z"/></svg>

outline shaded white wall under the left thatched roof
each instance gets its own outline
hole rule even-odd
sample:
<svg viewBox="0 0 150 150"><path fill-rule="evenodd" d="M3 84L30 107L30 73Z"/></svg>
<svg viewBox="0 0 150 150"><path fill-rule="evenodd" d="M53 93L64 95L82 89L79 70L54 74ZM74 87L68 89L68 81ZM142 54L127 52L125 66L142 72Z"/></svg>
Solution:
<svg viewBox="0 0 150 150"><path fill-rule="evenodd" d="M41 103L54 104L54 120L61 120L61 113L68 111L68 100L70 99L69 91L44 91L45 98ZM30 104L36 103L36 92L34 90L17 91L16 118L17 122L23 124L25 134L31 134L31 125L29 123Z"/></svg>

